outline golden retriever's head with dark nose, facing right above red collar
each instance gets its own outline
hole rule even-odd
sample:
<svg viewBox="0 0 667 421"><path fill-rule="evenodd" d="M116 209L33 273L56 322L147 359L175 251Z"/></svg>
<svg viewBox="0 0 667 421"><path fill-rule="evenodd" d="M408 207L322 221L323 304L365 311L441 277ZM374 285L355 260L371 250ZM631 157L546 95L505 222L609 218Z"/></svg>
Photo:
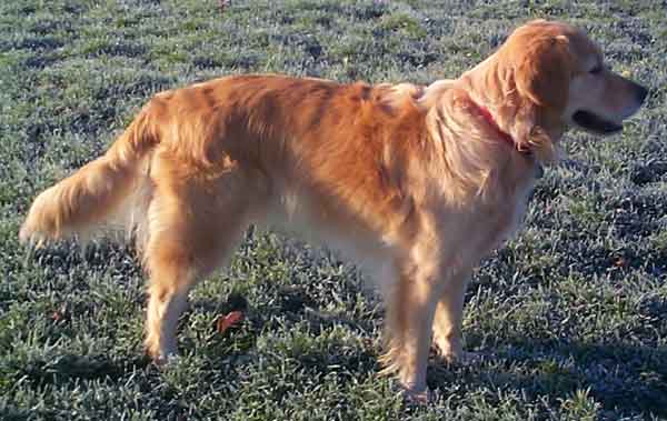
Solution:
<svg viewBox="0 0 667 421"><path fill-rule="evenodd" d="M485 97L505 104L502 126L532 149L552 148L567 127L617 132L648 92L613 72L583 31L545 20L515 30L480 70Z"/></svg>

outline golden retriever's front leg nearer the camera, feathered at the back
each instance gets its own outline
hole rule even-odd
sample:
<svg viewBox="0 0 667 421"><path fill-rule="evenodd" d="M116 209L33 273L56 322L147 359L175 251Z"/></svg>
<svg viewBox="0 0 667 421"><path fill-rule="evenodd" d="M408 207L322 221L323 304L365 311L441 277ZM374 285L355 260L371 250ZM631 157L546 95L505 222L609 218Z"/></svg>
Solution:
<svg viewBox="0 0 667 421"><path fill-rule="evenodd" d="M439 267L438 267L439 268ZM387 297L388 350L381 361L384 373L396 372L408 395L428 399L426 368L431 343L434 313L440 297L439 269L432 262L410 262Z"/></svg>

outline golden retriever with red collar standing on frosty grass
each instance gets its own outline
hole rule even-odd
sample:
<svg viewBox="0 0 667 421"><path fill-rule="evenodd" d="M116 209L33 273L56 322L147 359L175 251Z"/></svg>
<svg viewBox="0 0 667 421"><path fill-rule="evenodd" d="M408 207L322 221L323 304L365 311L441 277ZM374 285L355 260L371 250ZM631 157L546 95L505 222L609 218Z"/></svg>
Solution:
<svg viewBox="0 0 667 421"><path fill-rule="evenodd" d="M20 238L125 227L150 278L146 345L160 362L188 292L249 224L301 232L374 275L382 371L424 399L431 343L466 360L468 279L517 229L564 131L618 132L646 96L583 31L545 20L429 86L225 77L156 94L102 157L37 197Z"/></svg>

